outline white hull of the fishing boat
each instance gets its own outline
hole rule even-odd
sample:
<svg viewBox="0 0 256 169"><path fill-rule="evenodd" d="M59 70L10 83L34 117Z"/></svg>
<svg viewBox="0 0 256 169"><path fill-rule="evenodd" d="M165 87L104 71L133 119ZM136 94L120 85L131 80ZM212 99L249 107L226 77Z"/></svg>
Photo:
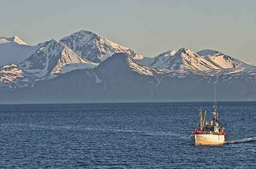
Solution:
<svg viewBox="0 0 256 169"><path fill-rule="evenodd" d="M193 134L192 140L196 145L221 145L225 143L225 135Z"/></svg>

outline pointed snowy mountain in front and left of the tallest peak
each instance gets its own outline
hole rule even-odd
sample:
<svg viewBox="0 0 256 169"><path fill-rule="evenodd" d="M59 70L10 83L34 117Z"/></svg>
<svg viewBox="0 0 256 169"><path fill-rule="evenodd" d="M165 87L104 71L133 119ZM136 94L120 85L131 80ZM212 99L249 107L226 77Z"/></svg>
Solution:
<svg viewBox="0 0 256 169"><path fill-rule="evenodd" d="M44 43L28 59L19 64L23 71L39 79L51 79L74 69L94 68L97 64L79 57L66 45L55 40Z"/></svg>

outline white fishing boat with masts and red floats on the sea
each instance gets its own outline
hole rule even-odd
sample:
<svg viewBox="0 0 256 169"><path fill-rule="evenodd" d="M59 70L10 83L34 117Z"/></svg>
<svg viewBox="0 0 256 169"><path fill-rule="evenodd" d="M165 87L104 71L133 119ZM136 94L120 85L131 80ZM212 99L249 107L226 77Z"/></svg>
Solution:
<svg viewBox="0 0 256 169"><path fill-rule="evenodd" d="M192 140L195 145L221 145L225 143L224 126L218 120L217 105L215 102L212 111L212 119L206 121L207 111L202 115L202 108L199 109L199 123L196 130L192 132ZM200 130L198 130L200 124Z"/></svg>

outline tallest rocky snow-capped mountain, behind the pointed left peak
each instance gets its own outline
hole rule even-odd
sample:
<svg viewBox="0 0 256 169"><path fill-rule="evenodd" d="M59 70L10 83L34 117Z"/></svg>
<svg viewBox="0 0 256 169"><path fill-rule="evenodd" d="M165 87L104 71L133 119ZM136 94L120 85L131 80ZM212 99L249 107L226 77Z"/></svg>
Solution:
<svg viewBox="0 0 256 169"><path fill-rule="evenodd" d="M62 38L60 42L67 45L80 57L95 63L104 61L116 52L128 53L137 59L142 58L140 54L135 53L133 50L89 31L74 33Z"/></svg>

